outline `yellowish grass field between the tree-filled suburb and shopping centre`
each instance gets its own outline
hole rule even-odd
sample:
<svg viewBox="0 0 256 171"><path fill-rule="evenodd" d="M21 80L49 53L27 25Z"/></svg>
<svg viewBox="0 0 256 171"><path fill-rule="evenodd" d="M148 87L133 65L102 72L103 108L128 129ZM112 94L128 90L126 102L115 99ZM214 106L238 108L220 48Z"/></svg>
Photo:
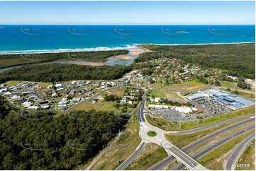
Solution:
<svg viewBox="0 0 256 171"><path fill-rule="evenodd" d="M200 90L207 88L208 86L204 83L199 82L198 80L187 81L180 84L172 84L165 86L163 83L152 83L150 88L158 90Z"/></svg>

